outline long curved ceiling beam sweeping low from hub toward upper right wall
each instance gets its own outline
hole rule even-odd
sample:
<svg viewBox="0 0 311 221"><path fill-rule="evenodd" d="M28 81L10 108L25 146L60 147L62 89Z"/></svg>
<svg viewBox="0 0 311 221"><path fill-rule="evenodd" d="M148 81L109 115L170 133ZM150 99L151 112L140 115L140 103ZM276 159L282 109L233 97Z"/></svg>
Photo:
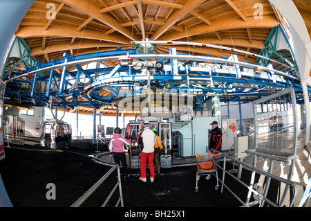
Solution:
<svg viewBox="0 0 311 221"><path fill-rule="evenodd" d="M214 33L215 31L221 30L234 30L243 28L273 28L279 26L279 21L275 16L265 16L264 19L254 19L254 17L249 17L248 21L241 21L241 19L231 19L224 22L223 20L215 21L212 26L206 24L198 24L191 28L187 28L187 33L168 33L158 37L161 41L172 41L176 39L181 39L183 37L189 37L194 35L201 35L204 33ZM158 28L159 30L160 28ZM154 34L156 37L158 35Z"/></svg>

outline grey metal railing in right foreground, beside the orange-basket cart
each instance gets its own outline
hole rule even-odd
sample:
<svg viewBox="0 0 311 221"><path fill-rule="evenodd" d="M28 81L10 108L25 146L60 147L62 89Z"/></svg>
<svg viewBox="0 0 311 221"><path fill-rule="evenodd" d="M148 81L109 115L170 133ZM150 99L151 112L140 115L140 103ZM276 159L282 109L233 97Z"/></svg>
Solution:
<svg viewBox="0 0 311 221"><path fill-rule="evenodd" d="M212 150L214 150L214 149L212 149ZM215 151L215 152L219 152L218 150L214 150L214 151ZM234 175L232 175L231 173L227 172L227 171L225 170L225 162L226 162L226 158L228 158L228 159L232 159L233 161L235 161L235 162L237 162L237 163L240 163L241 165L243 165L243 166L245 166L245 167L251 169L251 170L253 171L253 173L254 173L254 171L256 171L256 172L258 172L258 173L260 173L260 174L262 174L262 175L267 176L268 179L269 179L269 182L270 182L270 179L272 178L272 179L275 179L276 181L283 182L283 183L285 183L286 185L292 186L293 192L294 192L294 193L293 193L292 200L291 200L291 202L290 202L290 207L293 206L293 204L294 204L294 199L295 199L296 193L297 193L296 184L295 184L294 182L291 182L291 181L288 180L288 179L283 179L282 177L278 177L278 176L276 176L276 175L273 175L272 173L267 173L266 171L261 170L261 169L259 169L259 168L256 168L256 167L254 167L254 166L251 166L251 165L249 165L248 163L244 163L243 161L240 161L240 160L238 160L238 159L235 159L234 157L230 157L229 155L227 155L227 154L225 154L225 153L223 153L222 155L223 155L223 157L224 157L224 160L223 160L223 161L224 161L223 168L222 168L221 166L218 165L218 168L220 168L220 169L223 170L223 180L220 180L220 179L218 178L218 180L219 180L220 183L222 184L222 186L221 186L221 193L223 193L223 187L225 186L225 188L227 188L227 190L228 190L230 193L232 193L232 195L234 195L234 197L236 197L236 199L239 200L239 201L243 204L243 206L249 206L249 205L251 204L251 203L249 203L249 201L248 201L248 200L249 200L249 197L250 197L250 193L254 193L254 194L256 194L256 195L260 195L260 196L261 196L261 199L260 199L260 200L257 200L255 203L264 203L264 202L267 202L268 204L270 204L270 205L272 205L272 206L282 206L282 203L283 203L283 202L281 202L280 205L277 205L277 204L274 204L274 202L271 202L269 199L266 198L266 195L267 195L267 188L269 188L269 184L267 184L267 186L265 186L265 190L262 190L264 193L258 193L258 191L254 190L254 188L253 188L254 183L252 183L252 181L254 181L254 179L251 180L251 182L250 182L249 185L247 185L247 184L243 183L243 182L242 182L240 179L238 179L237 177L234 177ZM228 186L225 185L225 173L228 174L228 175L230 175L230 176L233 177L234 179L236 179L236 181L240 182L240 183L241 183L243 186L245 186L246 188L248 188L249 194L248 194L248 196L247 196L248 199L247 199L247 202L246 202L246 203L244 203L243 200L241 200L237 195L235 195L235 194L233 193L232 190L229 189ZM254 178L254 175L252 175L252 177ZM283 193L283 197L285 197L286 194L287 194L287 193ZM253 205L254 205L254 204L253 204ZM261 206L263 206L263 205L261 204Z"/></svg>

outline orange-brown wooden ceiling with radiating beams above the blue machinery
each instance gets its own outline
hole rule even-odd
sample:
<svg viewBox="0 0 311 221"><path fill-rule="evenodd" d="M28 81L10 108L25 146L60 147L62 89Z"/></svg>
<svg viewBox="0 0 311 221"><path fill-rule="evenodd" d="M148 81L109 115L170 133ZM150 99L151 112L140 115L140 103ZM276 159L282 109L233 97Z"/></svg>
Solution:
<svg viewBox="0 0 311 221"><path fill-rule="evenodd" d="M256 14L258 5L263 6L262 19ZM55 6L55 19L48 19L51 6ZM280 22L267 0L37 0L16 35L26 40L39 62L63 58L64 52L79 55L117 46L134 48L131 42L147 38L216 44L258 54L265 48L270 30ZM231 55L217 48L174 47L183 54ZM157 45L155 53L169 53L169 45ZM245 54L238 53L238 58L256 61ZM114 66L116 62L106 64ZM93 108L82 112L92 113Z"/></svg>

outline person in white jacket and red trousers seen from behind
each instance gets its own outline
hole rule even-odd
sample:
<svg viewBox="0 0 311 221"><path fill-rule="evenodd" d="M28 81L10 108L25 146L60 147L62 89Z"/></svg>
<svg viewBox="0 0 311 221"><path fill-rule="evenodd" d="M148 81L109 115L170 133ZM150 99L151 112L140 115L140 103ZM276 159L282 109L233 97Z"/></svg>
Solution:
<svg viewBox="0 0 311 221"><path fill-rule="evenodd" d="M144 130L138 135L138 145L140 145L140 180L147 182L146 164L147 159L150 170L150 181L153 182L155 171L153 166L154 144L156 143L156 134L150 130L149 122L144 122Z"/></svg>

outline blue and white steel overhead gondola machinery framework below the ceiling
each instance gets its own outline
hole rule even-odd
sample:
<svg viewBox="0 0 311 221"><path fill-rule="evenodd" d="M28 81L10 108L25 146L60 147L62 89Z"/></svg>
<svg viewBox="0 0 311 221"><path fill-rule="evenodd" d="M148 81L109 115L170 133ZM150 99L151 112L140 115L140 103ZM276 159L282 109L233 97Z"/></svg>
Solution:
<svg viewBox="0 0 311 221"><path fill-rule="evenodd" d="M272 30L272 33L276 33L276 30L276 28ZM269 38L267 42L271 42ZM262 55L272 58L272 54L266 55L265 51L269 50L263 50ZM80 66L87 62L115 61L120 55L127 53L135 60L134 66L117 64L115 67L91 70L84 70ZM122 50L117 47L115 51L77 56L64 53L63 56L63 59L52 60L44 64L35 62L33 67L27 67L22 73L15 73L12 69L10 69L10 74L3 73L5 81L25 73L34 75L33 79L23 76L12 80L12 83L20 84L21 87L18 89L9 87L6 90L5 103L34 107L47 106L48 103L53 102L51 107L72 109L78 106L97 108L111 105L116 98L142 93L143 86L147 85L148 76L146 71L135 68L135 64L141 62L144 65L148 60L153 59L152 64L161 62L163 67L157 69L155 65L151 70L151 87L163 89L165 94L189 91L196 95L194 96L195 109L202 109L204 103L214 96L218 96L223 102L252 102L288 87L294 88L297 103L303 104L303 91L301 82L296 76L296 66L284 71L284 66L273 67L269 60L263 62L262 58L260 61L261 64L265 64L263 66L265 70L256 73L254 70L259 67L259 64L238 61L237 55L234 54L228 59L177 55L175 48L170 48L169 54L144 54L141 51L137 54L135 49ZM279 62L282 61L284 60L279 60ZM285 62L285 65L289 66L289 64L292 65L294 62ZM145 66L142 69L146 69ZM75 67L76 70L68 71L68 67ZM55 73L55 69L62 69L62 73ZM122 75L117 73L122 73ZM110 75L110 77L99 80L100 76L105 75ZM39 88L37 88L38 85ZM122 88L129 89L130 92L122 94L120 93ZM102 89L108 89L112 93L109 96L102 96ZM308 91L311 91L310 87ZM72 99L68 101L68 98Z"/></svg>

